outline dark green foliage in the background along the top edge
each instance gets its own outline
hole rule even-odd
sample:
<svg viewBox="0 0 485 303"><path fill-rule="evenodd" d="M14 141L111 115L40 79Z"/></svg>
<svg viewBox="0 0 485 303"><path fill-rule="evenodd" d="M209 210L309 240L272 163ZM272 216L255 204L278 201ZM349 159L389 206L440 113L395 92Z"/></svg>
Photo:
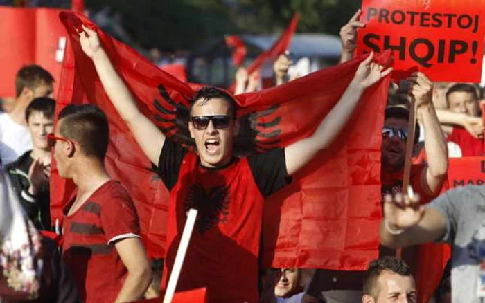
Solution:
<svg viewBox="0 0 485 303"><path fill-rule="evenodd" d="M121 12L136 43L161 50L193 49L206 39L238 33L278 33L299 11L300 33L332 33L358 0L86 0L88 8Z"/></svg>

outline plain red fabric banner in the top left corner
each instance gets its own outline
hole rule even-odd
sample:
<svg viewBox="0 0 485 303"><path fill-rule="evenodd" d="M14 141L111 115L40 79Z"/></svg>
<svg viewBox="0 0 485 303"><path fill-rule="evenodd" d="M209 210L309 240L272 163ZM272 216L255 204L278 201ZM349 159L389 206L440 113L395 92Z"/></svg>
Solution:
<svg viewBox="0 0 485 303"><path fill-rule="evenodd" d="M15 97L15 75L26 64L38 64L57 83L60 78L66 30L59 21L61 10L0 6L0 96Z"/></svg>

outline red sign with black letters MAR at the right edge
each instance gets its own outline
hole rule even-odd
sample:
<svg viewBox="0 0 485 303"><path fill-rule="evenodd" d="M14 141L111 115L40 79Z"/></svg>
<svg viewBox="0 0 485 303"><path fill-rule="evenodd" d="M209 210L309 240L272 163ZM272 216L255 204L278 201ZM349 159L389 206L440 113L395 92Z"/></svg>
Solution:
<svg viewBox="0 0 485 303"><path fill-rule="evenodd" d="M485 157L450 158L448 182L450 189L466 185L484 185Z"/></svg>

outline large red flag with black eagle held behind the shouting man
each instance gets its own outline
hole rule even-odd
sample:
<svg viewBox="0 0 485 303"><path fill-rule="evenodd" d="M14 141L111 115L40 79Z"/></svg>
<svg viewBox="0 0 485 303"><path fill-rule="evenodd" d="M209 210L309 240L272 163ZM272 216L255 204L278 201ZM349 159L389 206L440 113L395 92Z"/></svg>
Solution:
<svg viewBox="0 0 485 303"><path fill-rule="evenodd" d="M171 140L186 147L188 100L200 85L180 82L136 51L100 31L82 15L63 12L69 32L57 111L66 104L96 104L107 113L106 166L134 200L150 257L164 257L168 192L107 98L94 65L80 47L80 22L100 42L141 111ZM390 53L381 55L387 62ZM379 57L379 56L378 56ZM344 93L364 57L256 93L238 95L238 155L285 147L312 134ZM378 255L380 144L389 77L368 89L333 146L294 177L265 205L265 266L357 270ZM53 166L51 208L55 221L71 188Z"/></svg>

